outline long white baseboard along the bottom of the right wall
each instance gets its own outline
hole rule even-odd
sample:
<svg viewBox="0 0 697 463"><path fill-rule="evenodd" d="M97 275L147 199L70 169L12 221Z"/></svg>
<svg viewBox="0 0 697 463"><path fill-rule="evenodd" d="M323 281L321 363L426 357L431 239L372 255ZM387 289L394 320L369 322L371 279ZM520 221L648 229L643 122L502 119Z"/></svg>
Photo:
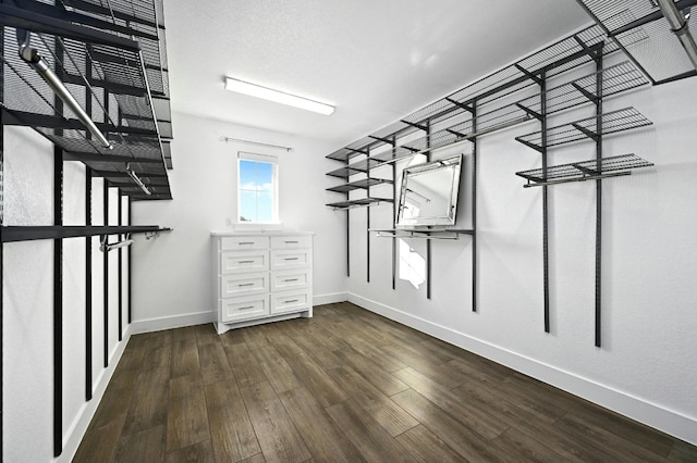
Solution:
<svg viewBox="0 0 697 463"><path fill-rule="evenodd" d="M697 420L695 418L360 296L350 292L347 299L360 308L697 445Z"/></svg>

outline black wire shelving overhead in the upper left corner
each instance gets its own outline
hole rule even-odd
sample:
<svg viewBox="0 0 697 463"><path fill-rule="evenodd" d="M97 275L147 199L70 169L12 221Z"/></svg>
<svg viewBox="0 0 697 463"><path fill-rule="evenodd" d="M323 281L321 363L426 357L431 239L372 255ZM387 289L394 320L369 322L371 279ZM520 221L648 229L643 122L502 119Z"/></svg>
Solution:
<svg viewBox="0 0 697 463"><path fill-rule="evenodd" d="M3 123L35 128L133 200L171 199L172 136L162 1L72 0L0 4ZM25 8L23 8L25 7ZM19 55L14 26L112 143L96 140ZM137 185L129 171L143 182Z"/></svg>

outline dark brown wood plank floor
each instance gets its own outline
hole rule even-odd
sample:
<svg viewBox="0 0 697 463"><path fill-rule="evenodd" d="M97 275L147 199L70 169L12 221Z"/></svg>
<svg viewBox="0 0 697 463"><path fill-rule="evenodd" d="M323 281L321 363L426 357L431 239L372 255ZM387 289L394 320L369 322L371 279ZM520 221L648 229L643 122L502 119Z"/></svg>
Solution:
<svg viewBox="0 0 697 463"><path fill-rule="evenodd" d="M133 336L76 462L696 462L697 449L348 303Z"/></svg>

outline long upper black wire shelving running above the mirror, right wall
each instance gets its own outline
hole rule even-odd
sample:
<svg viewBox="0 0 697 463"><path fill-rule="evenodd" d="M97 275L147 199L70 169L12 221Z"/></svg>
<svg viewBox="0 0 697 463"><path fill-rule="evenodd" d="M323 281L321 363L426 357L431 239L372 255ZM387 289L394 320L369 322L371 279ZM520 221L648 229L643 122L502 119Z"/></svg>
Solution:
<svg viewBox="0 0 697 463"><path fill-rule="evenodd" d="M477 114L476 125L472 115L475 104L485 108L496 107L491 103L537 85L538 76L542 74L546 78L560 75L592 62L596 57L608 55L619 49L615 42L607 41L600 26L588 27L328 154L328 159L344 162L345 165L328 172L327 175L348 182L357 174L369 175L372 168L415 154L456 146L478 136L530 121L539 116L541 111L539 92L512 103L501 103L496 109ZM632 63L620 63L548 89L545 93L548 99L547 113L594 102L595 95L598 93L595 88L598 74L603 82L603 97L637 88L649 82ZM457 122L445 128L431 130L431 127L442 127L451 120ZM376 151L379 153L372 154ZM363 159L352 162L355 158ZM343 188L344 186L338 186L329 190L346 192ZM332 202L327 205L345 209L337 208L335 204L338 203ZM350 205L353 208L372 204L362 201Z"/></svg>

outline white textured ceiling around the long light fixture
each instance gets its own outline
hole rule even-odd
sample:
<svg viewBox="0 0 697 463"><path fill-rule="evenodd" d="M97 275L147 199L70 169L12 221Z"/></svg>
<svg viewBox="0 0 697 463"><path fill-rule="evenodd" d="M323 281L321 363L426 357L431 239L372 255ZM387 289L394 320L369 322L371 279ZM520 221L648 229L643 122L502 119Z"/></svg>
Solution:
<svg viewBox="0 0 697 463"><path fill-rule="evenodd" d="M164 10L174 111L338 147L590 22L574 0L166 0ZM337 111L232 93L224 76Z"/></svg>

